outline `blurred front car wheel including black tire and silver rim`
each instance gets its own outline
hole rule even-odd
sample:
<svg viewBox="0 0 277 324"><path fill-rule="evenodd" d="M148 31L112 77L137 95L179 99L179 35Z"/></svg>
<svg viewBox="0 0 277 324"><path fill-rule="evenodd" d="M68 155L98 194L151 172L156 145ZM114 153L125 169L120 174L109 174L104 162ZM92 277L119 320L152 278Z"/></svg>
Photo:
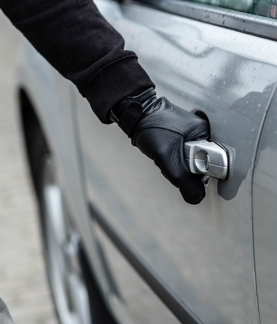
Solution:
<svg viewBox="0 0 277 324"><path fill-rule="evenodd" d="M35 114L28 112L27 116L23 132L38 201L48 281L59 322L116 324L103 302L82 240L71 222L51 150Z"/></svg>

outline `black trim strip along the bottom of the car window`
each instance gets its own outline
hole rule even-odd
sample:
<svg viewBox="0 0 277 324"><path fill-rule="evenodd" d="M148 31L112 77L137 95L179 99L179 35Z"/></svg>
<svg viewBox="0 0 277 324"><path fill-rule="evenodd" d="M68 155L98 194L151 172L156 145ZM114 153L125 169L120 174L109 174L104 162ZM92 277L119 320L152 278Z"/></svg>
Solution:
<svg viewBox="0 0 277 324"><path fill-rule="evenodd" d="M245 34L277 40L277 19L185 0L123 0Z"/></svg>

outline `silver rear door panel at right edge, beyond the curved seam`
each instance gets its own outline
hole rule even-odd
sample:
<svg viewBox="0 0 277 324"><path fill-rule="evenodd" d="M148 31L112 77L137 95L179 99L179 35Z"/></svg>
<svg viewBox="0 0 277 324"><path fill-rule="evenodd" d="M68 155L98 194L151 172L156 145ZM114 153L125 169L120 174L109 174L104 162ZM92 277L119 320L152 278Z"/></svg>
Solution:
<svg viewBox="0 0 277 324"><path fill-rule="evenodd" d="M260 323L277 322L277 95L262 128L253 176L253 226Z"/></svg>

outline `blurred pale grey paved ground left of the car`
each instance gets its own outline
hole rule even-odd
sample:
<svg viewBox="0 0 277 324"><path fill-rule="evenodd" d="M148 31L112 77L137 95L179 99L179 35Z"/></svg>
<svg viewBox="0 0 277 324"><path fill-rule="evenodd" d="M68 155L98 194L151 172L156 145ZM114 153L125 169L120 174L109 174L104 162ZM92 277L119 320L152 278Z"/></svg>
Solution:
<svg viewBox="0 0 277 324"><path fill-rule="evenodd" d="M0 296L16 324L57 324L17 116L21 37L0 11Z"/></svg>

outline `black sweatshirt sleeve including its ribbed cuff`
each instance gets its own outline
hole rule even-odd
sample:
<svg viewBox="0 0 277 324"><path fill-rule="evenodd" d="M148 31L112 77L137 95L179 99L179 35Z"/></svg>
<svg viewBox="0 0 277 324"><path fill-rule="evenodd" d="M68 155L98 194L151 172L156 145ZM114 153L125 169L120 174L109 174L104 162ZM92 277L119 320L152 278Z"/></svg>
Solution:
<svg viewBox="0 0 277 324"><path fill-rule="evenodd" d="M92 0L0 0L0 8L102 122L110 122L110 108L127 95L154 86Z"/></svg>

